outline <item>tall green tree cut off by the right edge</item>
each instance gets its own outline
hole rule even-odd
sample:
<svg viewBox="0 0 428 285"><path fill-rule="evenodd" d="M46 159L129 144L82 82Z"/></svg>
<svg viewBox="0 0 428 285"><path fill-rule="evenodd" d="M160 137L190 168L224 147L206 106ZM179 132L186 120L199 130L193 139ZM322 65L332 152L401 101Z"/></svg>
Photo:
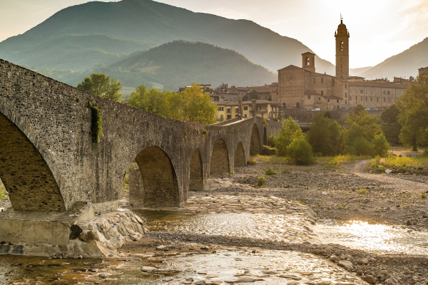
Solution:
<svg viewBox="0 0 428 285"><path fill-rule="evenodd" d="M407 88L397 101L402 125L399 140L403 145L428 145L428 72L417 76L417 83Z"/></svg>

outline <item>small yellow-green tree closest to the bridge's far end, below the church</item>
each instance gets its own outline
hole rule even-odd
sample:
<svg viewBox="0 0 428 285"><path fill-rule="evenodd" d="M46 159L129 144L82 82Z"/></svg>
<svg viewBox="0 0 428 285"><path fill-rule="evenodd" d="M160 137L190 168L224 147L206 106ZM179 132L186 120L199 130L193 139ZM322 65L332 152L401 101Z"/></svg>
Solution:
<svg viewBox="0 0 428 285"><path fill-rule="evenodd" d="M291 117L282 120L282 127L279 135L275 138L275 146L278 155L287 156L287 147L297 138L303 138L302 129Z"/></svg>

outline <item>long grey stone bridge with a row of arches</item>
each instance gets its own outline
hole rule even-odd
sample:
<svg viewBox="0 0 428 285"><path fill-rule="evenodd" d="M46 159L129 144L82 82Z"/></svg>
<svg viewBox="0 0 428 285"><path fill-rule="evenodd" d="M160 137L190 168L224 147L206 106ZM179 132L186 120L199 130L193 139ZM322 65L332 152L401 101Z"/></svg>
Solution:
<svg viewBox="0 0 428 285"><path fill-rule="evenodd" d="M180 207L188 190L245 166L279 129L263 118L171 120L0 60L0 178L19 211L117 209L130 169L137 204Z"/></svg>

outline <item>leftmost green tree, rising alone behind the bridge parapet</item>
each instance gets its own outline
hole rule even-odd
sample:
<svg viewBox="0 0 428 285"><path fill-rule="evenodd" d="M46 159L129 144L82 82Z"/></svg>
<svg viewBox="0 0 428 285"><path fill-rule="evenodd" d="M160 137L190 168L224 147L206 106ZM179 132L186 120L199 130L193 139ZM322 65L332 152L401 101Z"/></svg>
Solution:
<svg viewBox="0 0 428 285"><path fill-rule="evenodd" d="M92 73L78 83L77 88L110 100L121 101L122 83L103 73Z"/></svg>

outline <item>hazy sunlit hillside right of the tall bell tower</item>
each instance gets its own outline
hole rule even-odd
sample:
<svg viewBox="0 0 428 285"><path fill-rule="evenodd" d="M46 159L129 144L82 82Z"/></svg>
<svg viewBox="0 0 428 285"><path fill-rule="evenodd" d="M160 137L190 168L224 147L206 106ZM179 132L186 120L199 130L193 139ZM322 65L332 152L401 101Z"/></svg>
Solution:
<svg viewBox="0 0 428 285"><path fill-rule="evenodd" d="M428 66L428 38L409 49L370 68L360 76L367 79L417 76L418 69Z"/></svg>

